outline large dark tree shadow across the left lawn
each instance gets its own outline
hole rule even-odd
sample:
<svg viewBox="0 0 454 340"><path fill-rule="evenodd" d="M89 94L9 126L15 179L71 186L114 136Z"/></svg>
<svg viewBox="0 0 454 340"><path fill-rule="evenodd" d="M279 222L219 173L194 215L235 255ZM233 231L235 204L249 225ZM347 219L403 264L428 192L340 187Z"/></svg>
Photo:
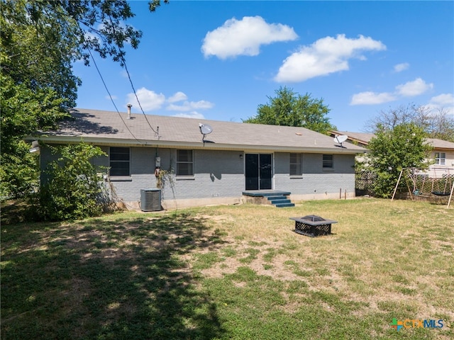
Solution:
<svg viewBox="0 0 454 340"><path fill-rule="evenodd" d="M216 305L185 266L221 242L189 214L2 229L2 339L213 339Z"/></svg>

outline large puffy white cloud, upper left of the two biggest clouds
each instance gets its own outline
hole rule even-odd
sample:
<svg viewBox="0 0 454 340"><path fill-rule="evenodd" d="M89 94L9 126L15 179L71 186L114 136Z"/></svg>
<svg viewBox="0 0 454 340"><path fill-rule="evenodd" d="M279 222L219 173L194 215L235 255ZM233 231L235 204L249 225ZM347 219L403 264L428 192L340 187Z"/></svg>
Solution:
<svg viewBox="0 0 454 340"><path fill-rule="evenodd" d="M297 33L287 25L267 23L260 16L245 16L241 20L231 18L223 26L206 33L201 51L205 57L214 55L220 59L254 56L260 53L261 45L297 38Z"/></svg>

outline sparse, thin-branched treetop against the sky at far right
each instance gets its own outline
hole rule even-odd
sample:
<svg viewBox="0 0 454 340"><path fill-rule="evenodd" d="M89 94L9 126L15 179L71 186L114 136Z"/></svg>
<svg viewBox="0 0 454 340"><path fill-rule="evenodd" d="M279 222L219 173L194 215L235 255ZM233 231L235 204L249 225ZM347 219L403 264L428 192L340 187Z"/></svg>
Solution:
<svg viewBox="0 0 454 340"><path fill-rule="evenodd" d="M443 108L428 106L399 106L380 111L377 117L367 122L367 130L375 133L382 128L393 129L397 125L413 123L426 132L427 137L454 142L454 117Z"/></svg>

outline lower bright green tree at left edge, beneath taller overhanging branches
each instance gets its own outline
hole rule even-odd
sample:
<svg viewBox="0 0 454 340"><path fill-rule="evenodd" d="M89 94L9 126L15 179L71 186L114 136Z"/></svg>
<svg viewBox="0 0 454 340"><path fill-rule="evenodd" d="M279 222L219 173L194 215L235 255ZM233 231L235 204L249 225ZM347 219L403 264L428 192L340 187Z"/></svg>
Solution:
<svg viewBox="0 0 454 340"><path fill-rule="evenodd" d="M26 84L13 84L11 77L1 79L1 154L0 195L26 196L38 186L38 156L28 152L22 137L52 125L62 117L62 99L52 89L33 91Z"/></svg>

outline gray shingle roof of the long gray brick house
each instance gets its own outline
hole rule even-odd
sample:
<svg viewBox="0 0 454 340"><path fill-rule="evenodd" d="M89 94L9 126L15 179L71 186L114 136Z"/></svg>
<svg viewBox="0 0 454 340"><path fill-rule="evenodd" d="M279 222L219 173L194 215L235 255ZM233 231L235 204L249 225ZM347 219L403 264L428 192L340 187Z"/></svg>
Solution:
<svg viewBox="0 0 454 340"><path fill-rule="evenodd" d="M365 152L357 145L339 147L332 137L305 128L289 126L233 123L199 120L162 115L143 115L77 108L71 111L73 120L60 125L60 130L43 132L48 142L86 142L104 145L160 145L175 147L205 147L211 149L267 149L304 152L355 154ZM211 125L213 132L205 143L199 123ZM159 139L155 132L159 127Z"/></svg>

